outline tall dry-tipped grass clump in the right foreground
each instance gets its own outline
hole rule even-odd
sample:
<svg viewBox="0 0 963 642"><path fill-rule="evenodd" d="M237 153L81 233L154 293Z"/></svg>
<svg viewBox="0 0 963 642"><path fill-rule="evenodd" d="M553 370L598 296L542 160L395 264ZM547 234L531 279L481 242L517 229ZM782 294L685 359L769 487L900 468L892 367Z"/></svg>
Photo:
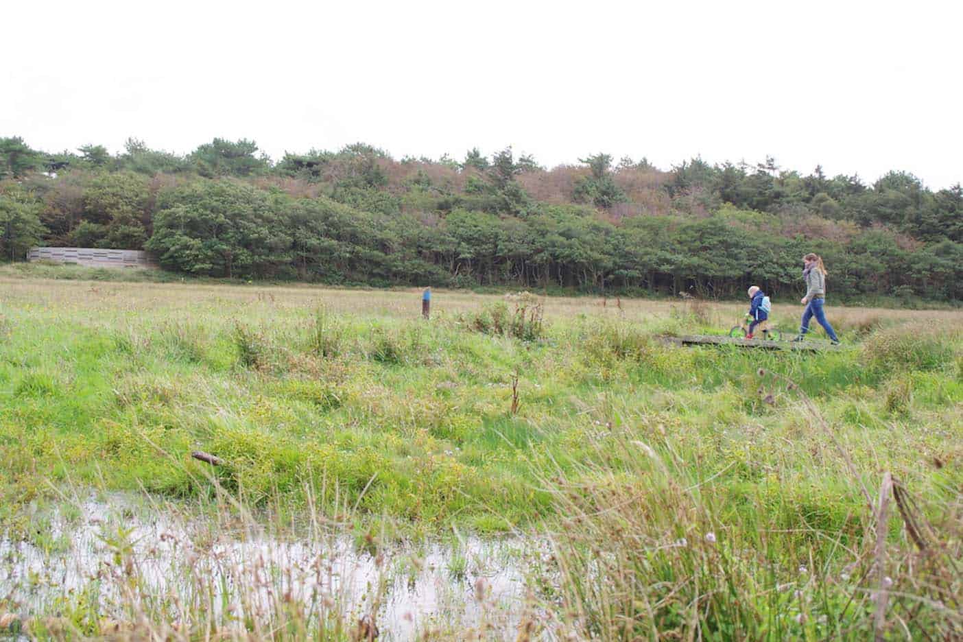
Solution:
<svg viewBox="0 0 963 642"><path fill-rule="evenodd" d="M811 404L795 407L812 432L822 432ZM612 440L622 453L617 459ZM963 634L958 494L923 512L910 491L895 487L897 518L854 503L855 527L846 533L802 526L794 513L803 507L785 499L737 500L716 483L722 472L693 468L664 431L650 434L649 443L624 434L596 443L578 475L545 470L564 516L549 531L550 568L560 576L553 591L586 638ZM858 496L853 489L850 501ZM890 498L879 505L884 501ZM927 523L924 514L937 521ZM895 528L902 536L890 536Z"/></svg>

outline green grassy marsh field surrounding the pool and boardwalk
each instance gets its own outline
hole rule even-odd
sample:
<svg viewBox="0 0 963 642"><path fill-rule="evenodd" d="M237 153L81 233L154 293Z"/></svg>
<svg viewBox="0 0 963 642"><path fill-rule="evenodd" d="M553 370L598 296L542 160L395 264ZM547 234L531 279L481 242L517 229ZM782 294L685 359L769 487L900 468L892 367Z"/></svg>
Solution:
<svg viewBox="0 0 963 642"><path fill-rule="evenodd" d="M795 353L655 338L736 304L435 292L424 321L419 294L4 272L6 536L65 487L227 496L383 546L548 542L540 615L491 639L963 634L963 313L830 301L844 346ZM774 301L784 334L799 312Z"/></svg>

